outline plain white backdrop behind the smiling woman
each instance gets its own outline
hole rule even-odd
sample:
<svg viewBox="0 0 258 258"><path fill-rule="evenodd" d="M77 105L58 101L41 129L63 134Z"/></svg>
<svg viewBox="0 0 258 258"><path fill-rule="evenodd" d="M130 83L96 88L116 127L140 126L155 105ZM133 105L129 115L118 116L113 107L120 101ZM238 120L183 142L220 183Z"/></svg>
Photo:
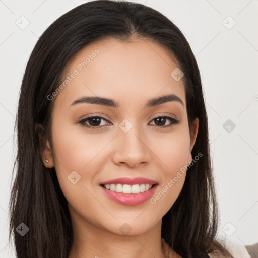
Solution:
<svg viewBox="0 0 258 258"><path fill-rule="evenodd" d="M60 15L84 2L0 1L1 258L15 257L8 246L8 202L17 148L14 123L25 66L43 31ZM205 91L221 214L219 230L222 236L241 244L258 242L258 1L136 2L163 13L189 41ZM16 25L21 16L29 21L24 30ZM223 128L228 119L236 125L231 132ZM231 236L225 234L230 235L234 228Z"/></svg>

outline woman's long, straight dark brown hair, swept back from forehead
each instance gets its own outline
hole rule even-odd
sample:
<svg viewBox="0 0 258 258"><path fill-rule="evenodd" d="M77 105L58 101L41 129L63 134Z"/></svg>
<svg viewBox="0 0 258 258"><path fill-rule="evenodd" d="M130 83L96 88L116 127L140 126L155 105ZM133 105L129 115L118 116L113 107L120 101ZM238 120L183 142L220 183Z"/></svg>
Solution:
<svg viewBox="0 0 258 258"><path fill-rule="evenodd" d="M200 72L191 48L168 18L152 8L117 1L92 1L80 5L52 23L36 43L24 73L17 119L17 174L10 199L10 235L18 258L68 258L73 229L66 198L55 168L46 168L40 137L50 139L52 102L47 96L59 85L66 64L80 49L106 38L128 41L132 36L153 40L176 58L182 78L189 124L199 118L192 157L202 158L188 167L185 183L171 209L162 218L161 235L182 257L207 257L219 250L216 241L218 211L211 168L208 121ZM42 131L35 130L35 124ZM13 178L12 178L13 179ZM24 223L29 232L16 228Z"/></svg>

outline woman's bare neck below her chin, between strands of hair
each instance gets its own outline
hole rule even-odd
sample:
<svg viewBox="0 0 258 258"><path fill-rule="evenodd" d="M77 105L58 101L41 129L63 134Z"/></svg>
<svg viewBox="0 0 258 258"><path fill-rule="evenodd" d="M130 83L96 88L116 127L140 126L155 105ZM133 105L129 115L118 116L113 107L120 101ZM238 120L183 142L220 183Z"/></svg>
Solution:
<svg viewBox="0 0 258 258"><path fill-rule="evenodd" d="M72 209L71 213L74 240L69 258L164 258L161 220L146 232L120 235L87 222Z"/></svg>

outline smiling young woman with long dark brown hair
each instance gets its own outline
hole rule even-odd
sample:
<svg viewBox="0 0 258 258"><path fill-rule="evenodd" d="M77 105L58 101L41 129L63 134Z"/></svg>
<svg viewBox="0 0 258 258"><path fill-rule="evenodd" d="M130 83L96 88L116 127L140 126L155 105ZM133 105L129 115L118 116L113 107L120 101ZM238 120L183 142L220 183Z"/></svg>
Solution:
<svg viewBox="0 0 258 258"><path fill-rule="evenodd" d="M92 1L39 38L17 116L17 257L233 257L196 59L161 13Z"/></svg>

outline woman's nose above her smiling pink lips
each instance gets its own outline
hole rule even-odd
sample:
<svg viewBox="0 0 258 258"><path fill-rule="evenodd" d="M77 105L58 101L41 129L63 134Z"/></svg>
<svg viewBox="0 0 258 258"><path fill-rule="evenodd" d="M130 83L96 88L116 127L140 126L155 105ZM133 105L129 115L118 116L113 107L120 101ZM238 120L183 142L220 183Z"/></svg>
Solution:
<svg viewBox="0 0 258 258"><path fill-rule="evenodd" d="M127 133L118 129L115 151L112 160L116 165L124 164L127 167L146 165L151 161L151 150L148 148L148 139L144 133L133 126Z"/></svg>

